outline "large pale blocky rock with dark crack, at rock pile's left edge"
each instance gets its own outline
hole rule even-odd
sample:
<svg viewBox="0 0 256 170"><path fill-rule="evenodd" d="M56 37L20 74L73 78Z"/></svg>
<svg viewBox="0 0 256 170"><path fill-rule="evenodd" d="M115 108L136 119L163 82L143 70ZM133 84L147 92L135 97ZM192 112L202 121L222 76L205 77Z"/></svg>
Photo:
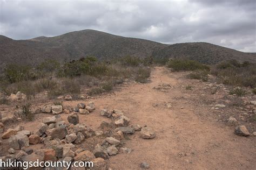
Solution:
<svg viewBox="0 0 256 170"><path fill-rule="evenodd" d="M29 146L29 138L23 134L16 134L8 139L10 147L20 150L22 147Z"/></svg>

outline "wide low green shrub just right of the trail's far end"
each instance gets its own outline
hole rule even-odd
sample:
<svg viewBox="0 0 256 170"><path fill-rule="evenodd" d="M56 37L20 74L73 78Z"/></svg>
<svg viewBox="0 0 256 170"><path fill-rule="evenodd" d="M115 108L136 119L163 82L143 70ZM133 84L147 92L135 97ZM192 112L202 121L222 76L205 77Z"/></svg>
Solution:
<svg viewBox="0 0 256 170"><path fill-rule="evenodd" d="M169 68L172 68L173 71L187 71L187 70L197 70L197 69L205 69L210 70L210 67L194 60L181 60L181 59L173 59L167 63Z"/></svg>

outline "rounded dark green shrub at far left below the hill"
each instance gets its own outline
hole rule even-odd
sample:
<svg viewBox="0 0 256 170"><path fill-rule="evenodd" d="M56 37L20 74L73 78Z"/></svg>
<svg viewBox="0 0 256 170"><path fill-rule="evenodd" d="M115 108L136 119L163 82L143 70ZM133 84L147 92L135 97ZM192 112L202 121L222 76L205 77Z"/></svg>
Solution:
<svg viewBox="0 0 256 170"><path fill-rule="evenodd" d="M12 63L4 68L4 76L10 83L36 79L36 77L30 71L30 66Z"/></svg>

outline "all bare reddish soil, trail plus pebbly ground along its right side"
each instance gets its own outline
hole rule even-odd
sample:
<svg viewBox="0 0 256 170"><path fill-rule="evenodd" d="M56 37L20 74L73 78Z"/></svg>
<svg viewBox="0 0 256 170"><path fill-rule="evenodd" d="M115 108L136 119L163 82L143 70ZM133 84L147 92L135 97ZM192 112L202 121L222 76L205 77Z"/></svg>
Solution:
<svg viewBox="0 0 256 170"><path fill-rule="evenodd" d="M100 110L114 108L123 110L130 118L130 124L146 125L156 132L153 139L142 139L139 132L127 135L123 145L132 148L132 152L111 156L107 162L109 167L140 169L140 164L146 161L150 169L255 169L256 137L234 134L235 126L239 124L246 125L251 133L255 131L252 118L255 106L247 102L255 98L230 96L225 87L186 79L186 74L156 67L150 83L126 84L111 95L90 100L95 103L96 110L89 115L79 115L79 119L80 123L94 130L101 130L100 123L110 121L100 116ZM212 94L215 87L217 91ZM80 102L86 103L65 101L63 104L75 107ZM19 122L5 128L22 125L25 130L35 132L42 119L49 116L37 114L33 122ZM68 114L60 116L67 122ZM230 116L238 123L228 125L226 119ZM87 138L76 147L92 151L103 140L104 137ZM8 141L3 140L0 147L4 154L3 151L8 150Z"/></svg>

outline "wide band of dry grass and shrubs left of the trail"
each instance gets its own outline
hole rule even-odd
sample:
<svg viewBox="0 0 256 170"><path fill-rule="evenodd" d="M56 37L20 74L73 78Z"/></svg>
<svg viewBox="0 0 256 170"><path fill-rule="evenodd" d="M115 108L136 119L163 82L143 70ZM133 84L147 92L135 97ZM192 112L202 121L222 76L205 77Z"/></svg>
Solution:
<svg viewBox="0 0 256 170"><path fill-rule="evenodd" d="M111 91L116 84L123 83L124 79L144 83L149 76L150 68L146 68L138 58L130 56L114 64L97 61L94 56L62 65L57 61L47 60L35 68L7 66L1 79L1 91L6 95L21 91L28 96L48 91L49 97L54 98L65 94L79 94L82 86L86 86L95 88L89 91L92 95Z"/></svg>

